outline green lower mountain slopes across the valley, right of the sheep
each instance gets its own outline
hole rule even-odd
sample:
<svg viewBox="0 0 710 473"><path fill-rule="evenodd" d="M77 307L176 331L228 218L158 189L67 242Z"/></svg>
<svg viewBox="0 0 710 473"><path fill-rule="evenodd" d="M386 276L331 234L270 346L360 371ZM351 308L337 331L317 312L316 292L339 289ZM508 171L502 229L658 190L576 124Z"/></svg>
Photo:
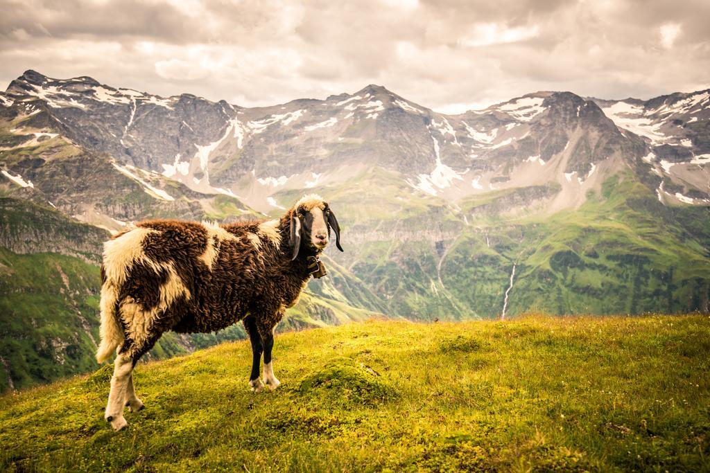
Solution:
<svg viewBox="0 0 710 473"><path fill-rule="evenodd" d="M344 226L347 251L330 255L388 314L498 318L513 265L507 316L709 311L710 207L661 204L643 167L606 176L583 204L561 210L554 182L458 206L413 198L381 169L315 190L329 196Z"/></svg>

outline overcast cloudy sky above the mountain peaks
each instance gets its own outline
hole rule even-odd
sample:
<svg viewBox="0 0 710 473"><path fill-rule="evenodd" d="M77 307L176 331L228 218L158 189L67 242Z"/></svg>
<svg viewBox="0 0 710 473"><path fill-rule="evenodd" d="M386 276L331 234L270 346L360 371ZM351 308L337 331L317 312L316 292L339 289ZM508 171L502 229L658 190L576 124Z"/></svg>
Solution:
<svg viewBox="0 0 710 473"><path fill-rule="evenodd" d="M537 90L710 87L710 1L0 0L0 87L35 69L241 106L380 84L437 111Z"/></svg>

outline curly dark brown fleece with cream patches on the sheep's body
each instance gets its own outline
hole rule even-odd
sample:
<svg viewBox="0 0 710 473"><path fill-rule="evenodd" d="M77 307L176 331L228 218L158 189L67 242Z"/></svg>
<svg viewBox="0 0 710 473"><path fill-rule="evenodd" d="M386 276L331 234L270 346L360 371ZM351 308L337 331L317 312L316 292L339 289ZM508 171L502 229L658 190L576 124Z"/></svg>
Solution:
<svg viewBox="0 0 710 473"><path fill-rule="evenodd" d="M126 265L114 313L124 331L121 353L137 361L163 332L221 330L248 315L262 338L273 333L310 277L307 257L320 251L304 235L291 260L290 221L209 223L153 220L115 235L143 229L138 257ZM110 242L109 242L110 244ZM142 256L141 256L142 255ZM102 267L102 279L106 275ZM249 327L247 328L249 331ZM253 328L252 328L253 330Z"/></svg>

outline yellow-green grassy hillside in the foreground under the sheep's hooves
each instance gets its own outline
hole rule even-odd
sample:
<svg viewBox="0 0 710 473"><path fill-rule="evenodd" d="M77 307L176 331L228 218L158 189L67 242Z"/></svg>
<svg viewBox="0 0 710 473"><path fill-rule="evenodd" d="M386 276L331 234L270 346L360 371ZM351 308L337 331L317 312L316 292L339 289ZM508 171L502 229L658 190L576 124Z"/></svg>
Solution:
<svg viewBox="0 0 710 473"><path fill-rule="evenodd" d="M0 469L710 469L710 318L351 323L277 337L273 393L246 342L0 398Z"/></svg>

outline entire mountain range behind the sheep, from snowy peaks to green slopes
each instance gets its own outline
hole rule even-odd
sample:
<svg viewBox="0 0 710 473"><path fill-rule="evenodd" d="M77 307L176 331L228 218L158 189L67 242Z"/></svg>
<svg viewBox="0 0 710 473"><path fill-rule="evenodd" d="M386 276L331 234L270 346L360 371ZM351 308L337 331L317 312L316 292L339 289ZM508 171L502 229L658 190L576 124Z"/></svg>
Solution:
<svg viewBox="0 0 710 473"><path fill-rule="evenodd" d="M27 71L0 93L0 389L92 367L111 232L278 216L308 192L345 252L285 328L709 311L709 119L710 91L539 91L451 116L376 85L244 108Z"/></svg>

